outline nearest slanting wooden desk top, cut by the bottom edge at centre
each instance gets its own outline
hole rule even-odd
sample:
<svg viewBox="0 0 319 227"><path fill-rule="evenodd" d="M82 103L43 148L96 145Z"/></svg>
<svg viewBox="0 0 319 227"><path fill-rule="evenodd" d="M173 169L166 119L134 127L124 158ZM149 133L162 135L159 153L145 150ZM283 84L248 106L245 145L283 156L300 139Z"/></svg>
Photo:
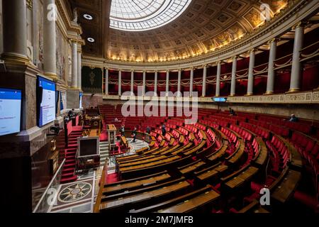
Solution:
<svg viewBox="0 0 319 227"><path fill-rule="evenodd" d="M216 201L220 198L220 194L211 190L205 192L204 194L198 195L192 199L186 200L181 204L177 204L176 206L169 207L167 209L159 210L159 213L186 213L189 211L194 211L201 206L206 204L211 204L213 201Z"/></svg>

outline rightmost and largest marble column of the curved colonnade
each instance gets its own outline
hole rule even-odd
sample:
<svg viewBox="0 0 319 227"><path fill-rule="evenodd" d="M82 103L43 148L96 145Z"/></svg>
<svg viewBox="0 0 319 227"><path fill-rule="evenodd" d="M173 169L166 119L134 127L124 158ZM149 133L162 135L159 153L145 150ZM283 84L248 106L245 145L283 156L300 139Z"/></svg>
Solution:
<svg viewBox="0 0 319 227"><path fill-rule="evenodd" d="M293 60L291 67L289 92L298 92L301 89L302 64L300 62L301 49L303 48L303 35L305 28L298 23L295 28L295 41L293 43Z"/></svg>

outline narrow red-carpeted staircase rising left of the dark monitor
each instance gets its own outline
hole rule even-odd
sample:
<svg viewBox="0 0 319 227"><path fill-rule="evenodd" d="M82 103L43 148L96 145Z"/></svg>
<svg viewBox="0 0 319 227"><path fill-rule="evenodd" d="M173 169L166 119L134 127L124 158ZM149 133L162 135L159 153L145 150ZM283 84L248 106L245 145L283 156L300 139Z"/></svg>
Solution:
<svg viewBox="0 0 319 227"><path fill-rule="evenodd" d="M77 180L75 172L75 155L77 154L77 138L82 135L82 131L72 131L69 134L68 146L65 149L65 165L62 171L61 184L74 182Z"/></svg>

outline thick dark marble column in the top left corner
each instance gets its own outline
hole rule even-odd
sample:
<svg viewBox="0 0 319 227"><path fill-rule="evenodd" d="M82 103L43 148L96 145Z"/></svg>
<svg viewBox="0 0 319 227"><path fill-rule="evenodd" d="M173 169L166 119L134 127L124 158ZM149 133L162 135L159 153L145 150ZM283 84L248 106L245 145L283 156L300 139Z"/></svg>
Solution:
<svg viewBox="0 0 319 227"><path fill-rule="evenodd" d="M28 62L26 0L2 1L4 59Z"/></svg>

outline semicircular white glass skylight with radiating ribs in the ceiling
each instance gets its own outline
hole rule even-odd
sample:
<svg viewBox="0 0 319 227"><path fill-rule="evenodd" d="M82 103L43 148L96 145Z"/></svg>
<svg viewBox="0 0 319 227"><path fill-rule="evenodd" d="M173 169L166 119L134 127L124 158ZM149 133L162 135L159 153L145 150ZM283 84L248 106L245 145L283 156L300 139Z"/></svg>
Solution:
<svg viewBox="0 0 319 227"><path fill-rule="evenodd" d="M174 21L191 0L112 0L110 27L145 31Z"/></svg>

